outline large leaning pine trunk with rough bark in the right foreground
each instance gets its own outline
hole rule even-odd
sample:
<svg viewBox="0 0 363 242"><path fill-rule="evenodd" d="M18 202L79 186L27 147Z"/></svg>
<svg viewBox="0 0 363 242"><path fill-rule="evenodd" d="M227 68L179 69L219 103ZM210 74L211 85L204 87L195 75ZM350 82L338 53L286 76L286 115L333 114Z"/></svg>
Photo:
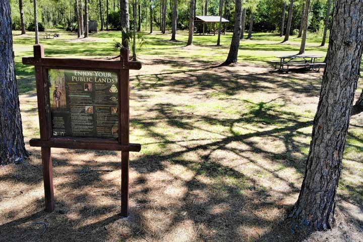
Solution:
<svg viewBox="0 0 363 242"><path fill-rule="evenodd" d="M362 51L363 1L338 0L305 176L290 214L318 230L335 224L335 195Z"/></svg>

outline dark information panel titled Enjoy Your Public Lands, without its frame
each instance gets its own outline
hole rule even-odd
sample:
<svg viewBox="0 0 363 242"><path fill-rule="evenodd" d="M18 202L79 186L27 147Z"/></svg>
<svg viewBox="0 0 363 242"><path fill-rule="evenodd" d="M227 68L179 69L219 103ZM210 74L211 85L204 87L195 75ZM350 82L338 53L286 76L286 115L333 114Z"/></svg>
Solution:
<svg viewBox="0 0 363 242"><path fill-rule="evenodd" d="M118 137L117 73L48 69L52 136Z"/></svg>

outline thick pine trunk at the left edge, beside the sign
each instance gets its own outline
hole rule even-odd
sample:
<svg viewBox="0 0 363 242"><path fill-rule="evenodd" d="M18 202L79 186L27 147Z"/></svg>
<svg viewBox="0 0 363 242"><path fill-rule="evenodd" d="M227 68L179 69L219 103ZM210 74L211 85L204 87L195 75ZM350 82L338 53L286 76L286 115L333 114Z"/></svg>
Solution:
<svg viewBox="0 0 363 242"><path fill-rule="evenodd" d="M9 1L0 2L0 165L18 163L27 156L19 109Z"/></svg>

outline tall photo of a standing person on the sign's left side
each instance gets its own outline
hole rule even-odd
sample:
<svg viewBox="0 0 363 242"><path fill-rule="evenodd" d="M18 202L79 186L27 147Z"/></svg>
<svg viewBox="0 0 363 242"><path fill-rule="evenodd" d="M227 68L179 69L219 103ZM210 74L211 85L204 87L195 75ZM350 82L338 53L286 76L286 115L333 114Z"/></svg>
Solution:
<svg viewBox="0 0 363 242"><path fill-rule="evenodd" d="M48 70L51 109L67 108L64 70Z"/></svg>

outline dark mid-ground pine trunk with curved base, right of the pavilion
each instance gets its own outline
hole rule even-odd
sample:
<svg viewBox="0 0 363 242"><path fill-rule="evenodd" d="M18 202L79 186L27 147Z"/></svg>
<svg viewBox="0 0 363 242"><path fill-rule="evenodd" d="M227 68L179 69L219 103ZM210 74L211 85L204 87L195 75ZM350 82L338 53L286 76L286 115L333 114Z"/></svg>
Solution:
<svg viewBox="0 0 363 242"><path fill-rule="evenodd" d="M234 29L226 61L222 65L237 63L240 31L242 29L242 0L235 0Z"/></svg>

